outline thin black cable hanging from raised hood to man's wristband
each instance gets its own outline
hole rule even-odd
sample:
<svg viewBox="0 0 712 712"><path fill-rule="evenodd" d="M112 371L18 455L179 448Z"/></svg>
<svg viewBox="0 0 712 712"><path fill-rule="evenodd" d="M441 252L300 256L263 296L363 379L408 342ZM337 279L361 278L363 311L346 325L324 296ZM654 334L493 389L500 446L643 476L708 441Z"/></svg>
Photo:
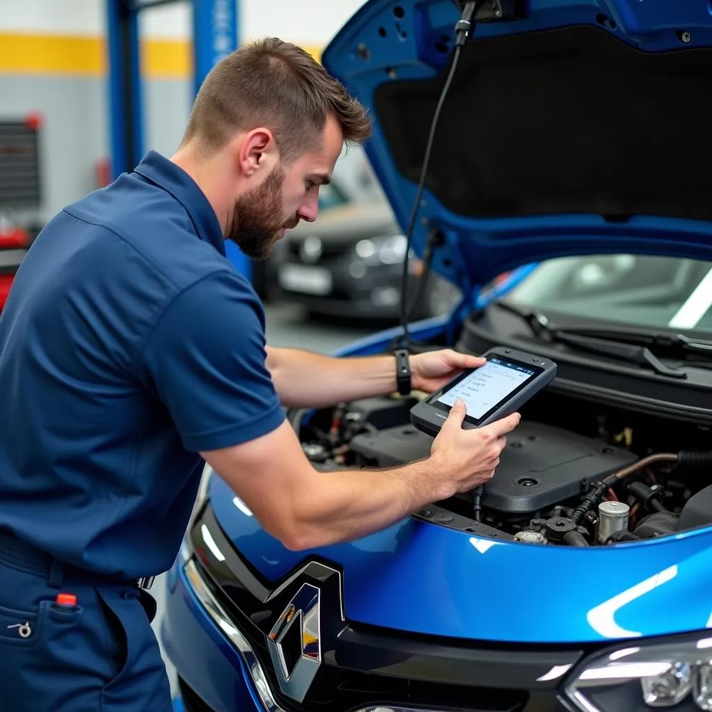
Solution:
<svg viewBox="0 0 712 712"><path fill-rule="evenodd" d="M433 142L435 139L435 132L437 130L438 122L440 119L440 113L442 111L443 105L445 103L445 98L450 90L450 85L455 76L455 72L460 61L460 55L462 53L462 48L465 46L468 38L470 38L471 33L474 30L473 17L478 6L483 0L469 0L465 3L462 10L460 19L455 25L455 50L452 58L452 65L450 67L450 72L447 79L445 80L445 85L440 94L440 99L435 108L435 113L433 115L433 120L430 125L430 135L428 137L428 142L425 149L425 155L423 158L423 167L420 172L420 180L418 183L418 190L413 203L413 209L410 215L410 220L408 223L408 229L406 231L406 248L405 256L403 258L403 281L401 288L401 327L403 329L403 336L400 342L401 348L410 350L410 333L408 331L408 315L409 315L409 305L408 305L408 268L409 268L409 253L410 246L413 240L413 230L415 229L415 221L418 217L418 210L420 207L420 201L423 197L423 190L425 187L425 179L428 172L428 165L430 163L430 154L433 150Z"/></svg>

